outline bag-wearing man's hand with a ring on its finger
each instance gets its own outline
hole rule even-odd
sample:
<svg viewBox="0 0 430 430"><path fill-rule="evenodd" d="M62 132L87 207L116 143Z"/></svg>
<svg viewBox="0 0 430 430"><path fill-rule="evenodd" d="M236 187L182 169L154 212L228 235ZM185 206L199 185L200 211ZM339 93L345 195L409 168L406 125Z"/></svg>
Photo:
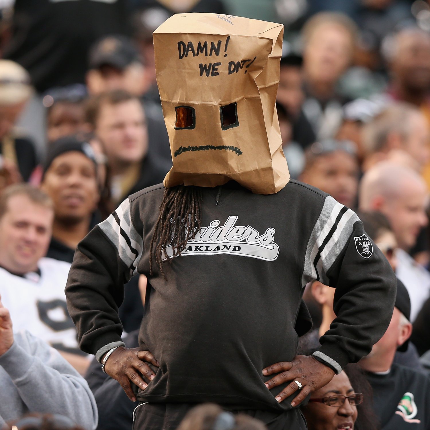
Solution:
<svg viewBox="0 0 430 430"><path fill-rule="evenodd" d="M328 384L335 375L334 370L329 366L307 355L296 355L293 361L279 362L263 369L263 375L273 375L274 373L278 375L265 383L269 389L291 381L276 396L278 402L282 402L300 389L298 395L291 402L293 407L303 402L308 394ZM301 388L295 381L301 384Z"/></svg>

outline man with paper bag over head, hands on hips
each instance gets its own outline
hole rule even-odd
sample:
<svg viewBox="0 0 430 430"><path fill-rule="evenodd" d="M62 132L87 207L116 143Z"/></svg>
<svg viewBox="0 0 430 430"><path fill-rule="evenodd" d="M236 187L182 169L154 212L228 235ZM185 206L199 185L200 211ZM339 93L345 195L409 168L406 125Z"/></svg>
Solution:
<svg viewBox="0 0 430 430"><path fill-rule="evenodd" d="M214 14L154 32L173 167L79 244L66 287L80 347L138 401L135 429L175 429L202 402L304 429L298 405L390 322L395 277L362 222L289 180L275 110L282 35ZM127 349L117 307L138 273L140 348ZM338 317L313 356L295 356L313 279L336 288Z"/></svg>

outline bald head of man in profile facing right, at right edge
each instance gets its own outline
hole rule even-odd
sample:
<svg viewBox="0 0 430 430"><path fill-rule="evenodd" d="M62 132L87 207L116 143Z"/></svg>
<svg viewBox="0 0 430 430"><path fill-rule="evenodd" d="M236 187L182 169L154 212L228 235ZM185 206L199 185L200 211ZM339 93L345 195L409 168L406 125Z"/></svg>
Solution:
<svg viewBox="0 0 430 430"><path fill-rule="evenodd" d="M359 209L378 211L390 221L399 247L408 251L427 225L427 186L417 172L395 163L379 163L363 176Z"/></svg>

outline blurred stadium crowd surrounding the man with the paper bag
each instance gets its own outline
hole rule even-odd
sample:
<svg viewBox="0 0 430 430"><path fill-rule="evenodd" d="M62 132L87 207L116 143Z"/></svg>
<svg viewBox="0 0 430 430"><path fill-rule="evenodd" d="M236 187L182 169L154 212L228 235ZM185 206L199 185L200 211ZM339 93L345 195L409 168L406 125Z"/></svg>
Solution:
<svg viewBox="0 0 430 430"><path fill-rule="evenodd" d="M64 286L80 240L171 166L152 32L173 13L211 12L285 25L276 108L290 174L356 211L399 279L386 334L311 394L308 428L430 430L430 1L3 0L0 11L0 427L132 428L135 404L78 348ZM145 288L133 278L119 310L130 347ZM334 295L307 285L301 353L329 329ZM264 426L205 405L180 427L211 428Z"/></svg>

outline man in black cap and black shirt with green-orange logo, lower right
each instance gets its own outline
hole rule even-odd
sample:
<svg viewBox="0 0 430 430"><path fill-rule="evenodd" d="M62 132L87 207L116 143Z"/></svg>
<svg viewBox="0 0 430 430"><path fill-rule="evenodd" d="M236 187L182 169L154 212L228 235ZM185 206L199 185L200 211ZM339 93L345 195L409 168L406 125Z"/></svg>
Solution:
<svg viewBox="0 0 430 430"><path fill-rule="evenodd" d="M374 411L381 430L430 429L430 380L424 372L393 362L411 335L408 291L398 280L393 317L384 336L359 365L373 389Z"/></svg>

